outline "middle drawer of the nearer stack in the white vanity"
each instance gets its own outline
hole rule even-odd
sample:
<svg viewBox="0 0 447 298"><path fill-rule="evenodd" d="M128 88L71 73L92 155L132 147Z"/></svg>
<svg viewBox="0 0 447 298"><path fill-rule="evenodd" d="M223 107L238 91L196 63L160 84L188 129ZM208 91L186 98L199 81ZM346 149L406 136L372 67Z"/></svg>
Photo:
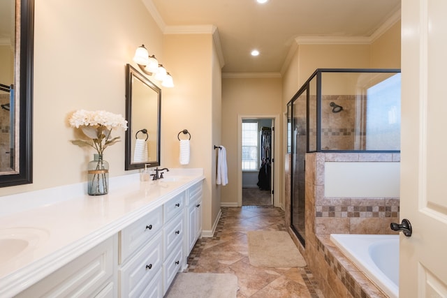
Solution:
<svg viewBox="0 0 447 298"><path fill-rule="evenodd" d="M149 284L162 276L163 242L161 232L138 251L136 255L119 269L121 297L147 297L144 292L151 292Z"/></svg>

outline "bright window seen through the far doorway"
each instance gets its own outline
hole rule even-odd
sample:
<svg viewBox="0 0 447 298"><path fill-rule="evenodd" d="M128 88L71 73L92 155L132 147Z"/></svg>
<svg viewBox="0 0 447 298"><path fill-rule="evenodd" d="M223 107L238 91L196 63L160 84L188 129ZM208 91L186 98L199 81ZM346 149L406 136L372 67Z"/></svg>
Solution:
<svg viewBox="0 0 447 298"><path fill-rule="evenodd" d="M242 122L242 171L258 170L258 123Z"/></svg>

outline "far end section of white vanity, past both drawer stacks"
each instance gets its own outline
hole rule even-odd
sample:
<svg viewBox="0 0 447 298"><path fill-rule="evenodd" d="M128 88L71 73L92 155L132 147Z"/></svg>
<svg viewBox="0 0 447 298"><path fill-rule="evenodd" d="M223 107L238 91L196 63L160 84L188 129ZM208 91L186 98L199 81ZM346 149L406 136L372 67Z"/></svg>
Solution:
<svg viewBox="0 0 447 298"><path fill-rule="evenodd" d="M202 182L194 184L188 189L187 202L187 235L186 258L191 253L194 244L202 234Z"/></svg>

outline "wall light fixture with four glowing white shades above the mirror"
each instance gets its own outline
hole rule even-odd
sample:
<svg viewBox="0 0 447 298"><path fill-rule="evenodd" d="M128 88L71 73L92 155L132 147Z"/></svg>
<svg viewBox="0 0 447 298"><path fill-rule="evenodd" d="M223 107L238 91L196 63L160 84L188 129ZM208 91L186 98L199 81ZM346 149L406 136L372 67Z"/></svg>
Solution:
<svg viewBox="0 0 447 298"><path fill-rule="evenodd" d="M163 87L174 87L173 77L167 75L166 68L159 64L159 61L155 58L155 55L149 56L149 52L145 45L141 45L135 50L135 56L133 61L138 64L143 73L147 75L154 75L155 80L161 81ZM168 80L165 82L165 80Z"/></svg>

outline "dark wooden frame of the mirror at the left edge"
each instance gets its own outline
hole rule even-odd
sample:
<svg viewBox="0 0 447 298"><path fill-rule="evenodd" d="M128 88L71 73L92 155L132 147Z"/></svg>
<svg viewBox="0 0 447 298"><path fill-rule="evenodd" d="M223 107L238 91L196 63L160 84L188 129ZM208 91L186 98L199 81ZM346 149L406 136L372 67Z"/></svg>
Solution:
<svg viewBox="0 0 447 298"><path fill-rule="evenodd" d="M15 28L15 89L19 107L17 129L18 171L1 172L0 187L30 184L33 181L33 59L34 59L34 0L16 0ZM18 19L17 19L18 20ZM19 49L20 52L17 52ZM18 96L17 96L18 94Z"/></svg>

